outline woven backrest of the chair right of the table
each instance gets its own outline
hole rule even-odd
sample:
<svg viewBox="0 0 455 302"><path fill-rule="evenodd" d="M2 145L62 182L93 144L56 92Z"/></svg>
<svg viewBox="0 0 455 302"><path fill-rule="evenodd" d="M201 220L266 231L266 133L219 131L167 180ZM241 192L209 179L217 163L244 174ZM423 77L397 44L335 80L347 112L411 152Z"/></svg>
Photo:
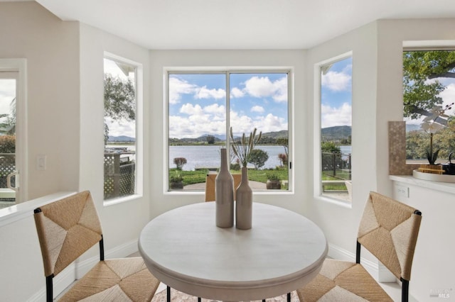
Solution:
<svg viewBox="0 0 455 302"><path fill-rule="evenodd" d="M415 208L370 192L357 240L397 278L409 281L421 220Z"/></svg>

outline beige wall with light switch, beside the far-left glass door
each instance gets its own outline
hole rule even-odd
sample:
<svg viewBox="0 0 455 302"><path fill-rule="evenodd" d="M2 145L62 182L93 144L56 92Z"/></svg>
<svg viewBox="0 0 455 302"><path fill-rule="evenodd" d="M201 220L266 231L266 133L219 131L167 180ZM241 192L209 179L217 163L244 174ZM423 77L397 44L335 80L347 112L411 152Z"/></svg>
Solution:
<svg viewBox="0 0 455 302"><path fill-rule="evenodd" d="M28 71L28 198L77 189L78 25L35 2L0 3L0 57L25 58ZM36 156L47 169L36 169Z"/></svg>

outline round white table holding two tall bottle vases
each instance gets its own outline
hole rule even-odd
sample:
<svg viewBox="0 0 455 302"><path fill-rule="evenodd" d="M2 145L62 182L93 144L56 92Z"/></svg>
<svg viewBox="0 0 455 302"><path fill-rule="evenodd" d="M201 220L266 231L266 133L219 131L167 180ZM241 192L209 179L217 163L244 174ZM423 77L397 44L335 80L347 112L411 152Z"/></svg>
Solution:
<svg viewBox="0 0 455 302"><path fill-rule="evenodd" d="M311 220L253 203L252 228L215 225L215 202L196 203L151 220L139 252L156 278L178 291L223 301L281 296L313 279L327 255Z"/></svg>

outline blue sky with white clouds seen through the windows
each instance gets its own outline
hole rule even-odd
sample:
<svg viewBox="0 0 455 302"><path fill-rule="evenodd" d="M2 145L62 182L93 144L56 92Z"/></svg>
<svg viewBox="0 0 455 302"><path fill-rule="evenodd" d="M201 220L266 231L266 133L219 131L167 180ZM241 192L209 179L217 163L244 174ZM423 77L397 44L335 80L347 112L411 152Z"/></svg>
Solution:
<svg viewBox="0 0 455 302"><path fill-rule="evenodd" d="M321 128L352 125L352 57L326 65L321 73ZM126 78L114 62L105 70ZM444 104L455 101L454 79L442 79ZM235 135L288 128L286 73L230 75L230 124ZM295 100L301 101L301 100ZM169 75L169 137L225 134L225 74ZM421 123L413 121L413 123ZM107 121L110 135L134 137L134 123Z"/></svg>

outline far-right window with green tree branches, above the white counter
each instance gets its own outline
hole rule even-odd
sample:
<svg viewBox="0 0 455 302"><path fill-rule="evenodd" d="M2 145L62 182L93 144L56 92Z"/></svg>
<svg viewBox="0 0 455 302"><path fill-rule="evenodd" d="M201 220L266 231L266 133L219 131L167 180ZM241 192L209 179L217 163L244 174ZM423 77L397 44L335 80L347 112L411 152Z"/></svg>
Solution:
<svg viewBox="0 0 455 302"><path fill-rule="evenodd" d="M454 102L454 50L403 52L407 163L449 161L455 152Z"/></svg>

